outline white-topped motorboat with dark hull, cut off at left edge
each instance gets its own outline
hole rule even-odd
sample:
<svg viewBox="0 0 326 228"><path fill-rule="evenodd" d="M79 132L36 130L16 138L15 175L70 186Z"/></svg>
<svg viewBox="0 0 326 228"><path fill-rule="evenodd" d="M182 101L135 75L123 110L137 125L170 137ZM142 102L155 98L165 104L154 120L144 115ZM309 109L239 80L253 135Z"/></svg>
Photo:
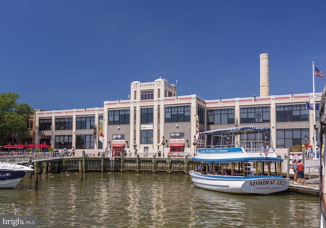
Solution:
<svg viewBox="0 0 326 228"><path fill-rule="evenodd" d="M14 188L27 172L34 169L18 164L0 162L0 188Z"/></svg>

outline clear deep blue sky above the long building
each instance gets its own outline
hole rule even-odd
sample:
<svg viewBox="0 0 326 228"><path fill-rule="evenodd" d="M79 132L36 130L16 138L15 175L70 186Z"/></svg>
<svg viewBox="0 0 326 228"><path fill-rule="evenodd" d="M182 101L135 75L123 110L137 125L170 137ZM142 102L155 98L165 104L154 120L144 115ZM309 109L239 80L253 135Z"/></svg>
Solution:
<svg viewBox="0 0 326 228"><path fill-rule="evenodd" d="M34 109L128 100L132 81L178 80L178 95L312 92L326 76L325 1L1 1L0 92ZM316 92L324 80L316 77Z"/></svg>

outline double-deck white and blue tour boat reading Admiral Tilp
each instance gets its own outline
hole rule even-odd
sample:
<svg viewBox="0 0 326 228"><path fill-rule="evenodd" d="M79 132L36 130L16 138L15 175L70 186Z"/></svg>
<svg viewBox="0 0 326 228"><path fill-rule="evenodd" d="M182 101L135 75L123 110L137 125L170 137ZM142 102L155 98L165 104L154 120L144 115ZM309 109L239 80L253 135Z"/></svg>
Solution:
<svg viewBox="0 0 326 228"><path fill-rule="evenodd" d="M240 126L201 132L194 168L189 172L196 187L240 194L269 194L288 189L282 176L283 161L276 156L270 128Z"/></svg>

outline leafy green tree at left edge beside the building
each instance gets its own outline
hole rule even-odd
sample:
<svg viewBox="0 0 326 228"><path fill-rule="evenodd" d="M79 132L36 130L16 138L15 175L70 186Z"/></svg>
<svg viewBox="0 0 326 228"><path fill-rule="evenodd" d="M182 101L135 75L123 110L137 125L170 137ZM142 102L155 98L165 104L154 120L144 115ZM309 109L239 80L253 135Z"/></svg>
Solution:
<svg viewBox="0 0 326 228"><path fill-rule="evenodd" d="M28 120L34 110L28 104L17 104L19 97L14 92L0 95L0 144L15 138L16 134L21 139L29 134Z"/></svg>

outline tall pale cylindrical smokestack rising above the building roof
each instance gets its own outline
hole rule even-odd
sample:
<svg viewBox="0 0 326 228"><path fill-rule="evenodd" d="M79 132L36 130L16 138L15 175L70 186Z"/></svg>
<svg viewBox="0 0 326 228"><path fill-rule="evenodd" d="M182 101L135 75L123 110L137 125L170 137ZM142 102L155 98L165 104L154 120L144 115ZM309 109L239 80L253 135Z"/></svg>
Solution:
<svg viewBox="0 0 326 228"><path fill-rule="evenodd" d="M269 55L263 53L260 59L260 96L269 96Z"/></svg>

